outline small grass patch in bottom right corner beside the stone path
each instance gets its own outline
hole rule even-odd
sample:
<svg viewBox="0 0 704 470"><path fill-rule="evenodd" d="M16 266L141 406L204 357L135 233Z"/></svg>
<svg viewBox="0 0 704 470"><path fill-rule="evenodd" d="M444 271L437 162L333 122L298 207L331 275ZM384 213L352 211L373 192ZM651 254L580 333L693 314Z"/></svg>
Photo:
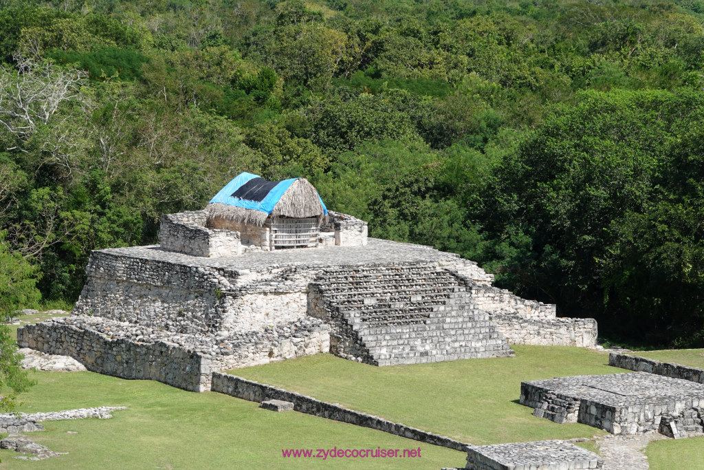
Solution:
<svg viewBox="0 0 704 470"><path fill-rule="evenodd" d="M656 440L646 447L650 470L704 469L704 438Z"/></svg>

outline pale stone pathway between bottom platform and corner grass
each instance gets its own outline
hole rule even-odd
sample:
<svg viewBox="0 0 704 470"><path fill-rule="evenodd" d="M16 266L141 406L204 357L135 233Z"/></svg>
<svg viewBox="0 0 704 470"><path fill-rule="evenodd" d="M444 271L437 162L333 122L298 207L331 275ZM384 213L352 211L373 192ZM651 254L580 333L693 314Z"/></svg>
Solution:
<svg viewBox="0 0 704 470"><path fill-rule="evenodd" d="M599 454L604 459L602 470L648 470L648 457L644 453L650 441L667 439L660 433L641 435L608 434L596 439Z"/></svg>

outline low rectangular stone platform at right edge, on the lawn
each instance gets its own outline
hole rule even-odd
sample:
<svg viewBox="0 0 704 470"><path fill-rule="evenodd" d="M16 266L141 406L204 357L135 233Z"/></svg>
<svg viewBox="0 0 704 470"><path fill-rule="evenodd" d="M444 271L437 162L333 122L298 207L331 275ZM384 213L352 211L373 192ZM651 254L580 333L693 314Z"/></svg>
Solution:
<svg viewBox="0 0 704 470"><path fill-rule="evenodd" d="M557 423L584 423L613 434L704 431L704 385L652 373L560 377L521 384L521 404Z"/></svg>

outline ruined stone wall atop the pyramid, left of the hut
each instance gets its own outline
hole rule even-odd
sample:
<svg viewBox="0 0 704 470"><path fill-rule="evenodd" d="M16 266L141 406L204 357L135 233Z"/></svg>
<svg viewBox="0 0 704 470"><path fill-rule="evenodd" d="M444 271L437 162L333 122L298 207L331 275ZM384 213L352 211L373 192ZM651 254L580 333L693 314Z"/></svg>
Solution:
<svg viewBox="0 0 704 470"><path fill-rule="evenodd" d="M234 256L241 253L240 234L206 228L207 212L191 211L161 216L161 249L191 256Z"/></svg>

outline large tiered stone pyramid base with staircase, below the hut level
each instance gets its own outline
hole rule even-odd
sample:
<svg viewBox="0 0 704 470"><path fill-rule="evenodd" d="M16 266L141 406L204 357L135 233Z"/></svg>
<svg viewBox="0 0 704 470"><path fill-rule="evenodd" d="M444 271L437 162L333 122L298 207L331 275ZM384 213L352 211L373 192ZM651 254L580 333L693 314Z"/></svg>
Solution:
<svg viewBox="0 0 704 470"><path fill-rule="evenodd" d="M187 390L208 390L216 370L318 352L386 366L506 357L509 342L596 344L593 319L557 319L473 261L388 240L212 258L102 249L86 273L70 320L20 328L20 345Z"/></svg>

